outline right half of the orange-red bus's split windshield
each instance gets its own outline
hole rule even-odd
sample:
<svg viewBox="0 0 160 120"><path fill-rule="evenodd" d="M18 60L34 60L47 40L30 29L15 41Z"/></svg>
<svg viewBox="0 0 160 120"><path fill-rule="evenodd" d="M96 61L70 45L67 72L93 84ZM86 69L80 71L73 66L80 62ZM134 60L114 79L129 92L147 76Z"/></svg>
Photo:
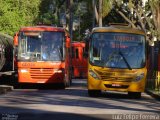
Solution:
<svg viewBox="0 0 160 120"><path fill-rule="evenodd" d="M44 32L42 37L42 60L61 61L63 59L64 33Z"/></svg>

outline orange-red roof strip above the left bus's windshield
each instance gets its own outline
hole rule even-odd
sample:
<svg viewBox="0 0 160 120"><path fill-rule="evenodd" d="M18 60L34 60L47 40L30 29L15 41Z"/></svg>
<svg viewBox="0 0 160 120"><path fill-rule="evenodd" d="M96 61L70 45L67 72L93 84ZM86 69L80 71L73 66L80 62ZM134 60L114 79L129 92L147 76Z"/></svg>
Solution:
<svg viewBox="0 0 160 120"><path fill-rule="evenodd" d="M65 32L64 28L62 27L54 27L54 26L28 26L22 27L20 31L58 31L58 32Z"/></svg>

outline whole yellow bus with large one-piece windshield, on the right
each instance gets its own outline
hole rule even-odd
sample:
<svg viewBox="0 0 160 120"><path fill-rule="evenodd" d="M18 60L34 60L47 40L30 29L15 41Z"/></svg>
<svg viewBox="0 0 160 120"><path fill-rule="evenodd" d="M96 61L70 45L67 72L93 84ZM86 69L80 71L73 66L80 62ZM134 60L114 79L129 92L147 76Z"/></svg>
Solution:
<svg viewBox="0 0 160 120"><path fill-rule="evenodd" d="M140 98L146 81L145 33L123 25L92 29L88 57L88 94L128 92Z"/></svg>

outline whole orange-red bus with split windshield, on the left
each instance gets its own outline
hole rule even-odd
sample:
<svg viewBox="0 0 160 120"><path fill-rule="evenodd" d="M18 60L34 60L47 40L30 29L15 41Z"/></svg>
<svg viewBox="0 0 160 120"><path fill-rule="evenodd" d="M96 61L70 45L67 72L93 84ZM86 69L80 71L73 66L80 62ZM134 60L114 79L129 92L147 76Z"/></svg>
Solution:
<svg viewBox="0 0 160 120"><path fill-rule="evenodd" d="M19 83L71 83L70 37L53 26L23 27L14 36L14 63Z"/></svg>

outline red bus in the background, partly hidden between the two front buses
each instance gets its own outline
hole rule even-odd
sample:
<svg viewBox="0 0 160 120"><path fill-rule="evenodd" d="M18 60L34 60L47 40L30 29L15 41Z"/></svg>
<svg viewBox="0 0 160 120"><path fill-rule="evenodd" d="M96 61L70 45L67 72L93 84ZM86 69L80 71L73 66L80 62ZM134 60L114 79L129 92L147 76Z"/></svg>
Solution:
<svg viewBox="0 0 160 120"><path fill-rule="evenodd" d="M85 43L72 42L72 78L87 77L87 58L84 55Z"/></svg>

